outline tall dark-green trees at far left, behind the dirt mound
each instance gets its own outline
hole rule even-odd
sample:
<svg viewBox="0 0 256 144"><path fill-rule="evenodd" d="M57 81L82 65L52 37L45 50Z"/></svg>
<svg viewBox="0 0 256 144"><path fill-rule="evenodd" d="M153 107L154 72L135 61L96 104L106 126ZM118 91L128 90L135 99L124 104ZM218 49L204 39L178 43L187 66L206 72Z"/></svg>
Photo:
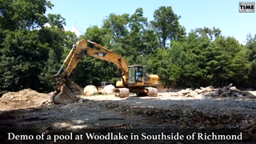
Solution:
<svg viewBox="0 0 256 144"><path fill-rule="evenodd" d="M70 45L65 42L65 19L59 14L47 17L46 8L53 5L46 0L0 3L1 94L24 88L49 91L50 75Z"/></svg>

